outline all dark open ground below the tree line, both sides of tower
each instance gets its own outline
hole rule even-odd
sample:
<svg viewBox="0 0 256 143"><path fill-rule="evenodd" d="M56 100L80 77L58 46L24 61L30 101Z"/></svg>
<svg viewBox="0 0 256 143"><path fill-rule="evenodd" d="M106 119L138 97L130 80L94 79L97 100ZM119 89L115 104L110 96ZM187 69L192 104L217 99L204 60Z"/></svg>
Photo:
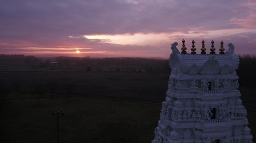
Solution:
<svg viewBox="0 0 256 143"><path fill-rule="evenodd" d="M124 72L1 72L10 90L0 111L0 142L56 142L53 110L60 117L60 142L150 142L154 138L170 73ZM39 105L34 85L57 81L51 99L44 94ZM67 98L65 85L74 86ZM72 83L72 84L71 84ZM67 87L66 87L67 88ZM255 89L242 87L249 127L256 136ZM254 141L255 142L255 141Z"/></svg>

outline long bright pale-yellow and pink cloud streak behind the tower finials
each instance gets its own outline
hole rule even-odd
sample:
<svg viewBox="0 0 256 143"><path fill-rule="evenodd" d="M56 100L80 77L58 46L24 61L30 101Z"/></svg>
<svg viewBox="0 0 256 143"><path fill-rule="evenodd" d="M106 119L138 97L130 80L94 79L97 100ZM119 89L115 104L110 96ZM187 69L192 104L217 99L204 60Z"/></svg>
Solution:
<svg viewBox="0 0 256 143"><path fill-rule="evenodd" d="M256 33L256 29L236 28L222 30L188 30L187 32L171 33L149 33L149 34L119 34L119 35L83 35L90 40L98 40L103 43L114 43L119 45L159 45L169 43L170 40L181 38L216 38L242 33Z"/></svg>

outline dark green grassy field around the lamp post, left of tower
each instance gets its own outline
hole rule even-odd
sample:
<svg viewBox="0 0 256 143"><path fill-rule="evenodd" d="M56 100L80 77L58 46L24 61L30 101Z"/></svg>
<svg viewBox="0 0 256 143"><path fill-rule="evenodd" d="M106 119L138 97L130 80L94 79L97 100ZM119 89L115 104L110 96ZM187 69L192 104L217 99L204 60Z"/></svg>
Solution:
<svg viewBox="0 0 256 143"><path fill-rule="evenodd" d="M60 142L150 142L161 104L72 97L8 100L1 112L1 142L56 142L55 109Z"/></svg>

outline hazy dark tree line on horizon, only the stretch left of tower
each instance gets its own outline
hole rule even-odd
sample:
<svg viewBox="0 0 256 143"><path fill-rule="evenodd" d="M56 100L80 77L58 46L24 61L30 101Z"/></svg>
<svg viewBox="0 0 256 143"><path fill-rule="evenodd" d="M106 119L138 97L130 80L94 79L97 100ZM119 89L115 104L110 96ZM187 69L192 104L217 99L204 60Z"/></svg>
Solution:
<svg viewBox="0 0 256 143"><path fill-rule="evenodd" d="M128 71L154 72L170 71L168 60L150 58L90 58L52 57L38 58L25 55L0 55L0 70L86 70L86 71Z"/></svg>

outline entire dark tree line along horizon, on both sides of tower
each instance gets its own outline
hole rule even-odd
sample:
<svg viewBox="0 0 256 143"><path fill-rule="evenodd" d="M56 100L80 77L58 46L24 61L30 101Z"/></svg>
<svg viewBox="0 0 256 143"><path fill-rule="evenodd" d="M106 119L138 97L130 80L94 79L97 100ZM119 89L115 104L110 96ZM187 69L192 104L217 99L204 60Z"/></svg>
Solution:
<svg viewBox="0 0 256 143"><path fill-rule="evenodd" d="M256 77L256 56L238 55L240 65L237 74L240 84L254 86ZM0 70L8 70L8 66L27 67L28 70L85 70L113 72L170 72L167 59L148 58L90 58L90 57L53 57L38 58L25 55L0 55ZM11 69L11 68L10 68Z"/></svg>

